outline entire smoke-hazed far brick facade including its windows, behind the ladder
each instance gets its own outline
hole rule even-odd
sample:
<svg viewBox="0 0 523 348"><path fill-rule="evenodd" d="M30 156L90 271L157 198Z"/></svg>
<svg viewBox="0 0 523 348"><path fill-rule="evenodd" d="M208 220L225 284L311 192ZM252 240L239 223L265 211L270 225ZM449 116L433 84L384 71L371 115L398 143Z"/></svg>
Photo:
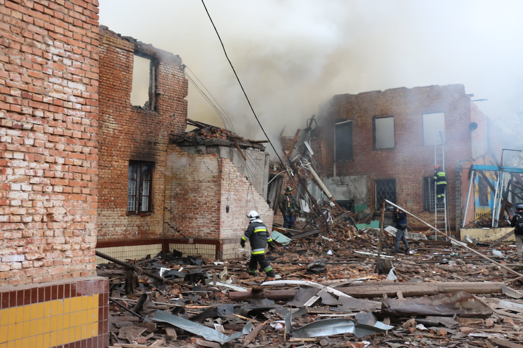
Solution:
<svg viewBox="0 0 523 348"><path fill-rule="evenodd" d="M348 187L336 199L365 202L379 211L387 198L427 222L435 219L430 178L440 164L435 142L443 139L450 230L459 230L470 165L501 154L489 140L487 117L463 85L338 94L322 105L321 118L317 159L324 181L335 192L339 183ZM346 179L355 175L366 176L366 189ZM414 219L409 225L425 229Z"/></svg>

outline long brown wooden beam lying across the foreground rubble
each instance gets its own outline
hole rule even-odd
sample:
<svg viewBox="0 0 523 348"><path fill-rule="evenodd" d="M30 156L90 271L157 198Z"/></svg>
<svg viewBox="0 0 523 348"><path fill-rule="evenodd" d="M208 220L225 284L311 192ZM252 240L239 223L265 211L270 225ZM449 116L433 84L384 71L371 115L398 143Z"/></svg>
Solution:
<svg viewBox="0 0 523 348"><path fill-rule="evenodd" d="M259 288L257 288L259 289ZM274 301L291 299L298 290L261 290L235 291L229 293L231 301L245 301L249 298L268 298ZM347 287L336 287L337 290L356 298L395 296L401 291L403 296L424 296L446 294L463 290L470 294L502 294L507 289L501 282L444 282L444 283L367 283Z"/></svg>

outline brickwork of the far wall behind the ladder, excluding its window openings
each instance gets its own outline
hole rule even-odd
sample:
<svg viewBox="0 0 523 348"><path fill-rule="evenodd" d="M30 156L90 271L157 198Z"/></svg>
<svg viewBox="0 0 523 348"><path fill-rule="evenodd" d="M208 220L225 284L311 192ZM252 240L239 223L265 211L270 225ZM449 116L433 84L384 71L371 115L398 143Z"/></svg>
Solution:
<svg viewBox="0 0 523 348"><path fill-rule="evenodd" d="M456 221L456 166L472 158L471 102L463 85L395 88L359 94L335 95L324 105L322 120L323 175L333 173L334 123L353 120L354 161L336 163L336 175L366 174L369 206L374 206L374 180L395 178L397 203L427 222L434 213L423 209L423 178L434 174L434 146L423 145L424 113L445 113L449 226ZM373 150L372 117L394 116L396 146ZM479 117L484 117L483 114ZM481 121L476 119L475 122ZM410 220L412 227L422 227Z"/></svg>

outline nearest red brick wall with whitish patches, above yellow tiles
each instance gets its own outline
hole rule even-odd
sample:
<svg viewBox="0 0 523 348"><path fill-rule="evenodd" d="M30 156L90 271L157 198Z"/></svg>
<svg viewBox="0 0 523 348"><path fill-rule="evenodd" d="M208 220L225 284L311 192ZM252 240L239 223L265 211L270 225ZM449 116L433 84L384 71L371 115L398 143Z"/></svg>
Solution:
<svg viewBox="0 0 523 348"><path fill-rule="evenodd" d="M97 6L0 0L0 287L96 275Z"/></svg>

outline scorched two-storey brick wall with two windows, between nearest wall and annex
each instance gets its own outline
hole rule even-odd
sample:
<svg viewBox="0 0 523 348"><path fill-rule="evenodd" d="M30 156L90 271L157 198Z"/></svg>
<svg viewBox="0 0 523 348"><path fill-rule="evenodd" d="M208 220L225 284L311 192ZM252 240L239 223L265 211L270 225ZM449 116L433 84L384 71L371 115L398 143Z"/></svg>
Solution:
<svg viewBox="0 0 523 348"><path fill-rule="evenodd" d="M155 111L130 103L135 52L157 62ZM186 95L187 79L178 56L100 27L98 240L162 235L167 143L185 132ZM127 213L129 160L155 163L151 214Z"/></svg>

